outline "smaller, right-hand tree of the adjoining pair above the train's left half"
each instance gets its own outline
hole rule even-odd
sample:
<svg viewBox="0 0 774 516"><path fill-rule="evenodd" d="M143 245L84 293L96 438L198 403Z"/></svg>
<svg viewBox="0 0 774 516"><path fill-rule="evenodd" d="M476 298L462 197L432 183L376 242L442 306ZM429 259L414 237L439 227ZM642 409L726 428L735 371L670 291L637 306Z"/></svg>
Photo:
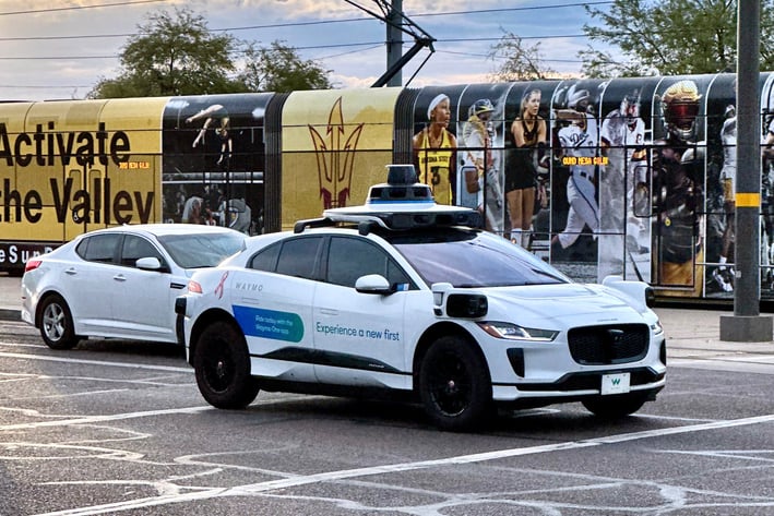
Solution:
<svg viewBox="0 0 774 516"><path fill-rule="evenodd" d="M274 41L269 48L248 44L245 59L239 81L249 91L294 92L331 87L329 70L323 70L314 61L301 60L296 49L284 41Z"/></svg>

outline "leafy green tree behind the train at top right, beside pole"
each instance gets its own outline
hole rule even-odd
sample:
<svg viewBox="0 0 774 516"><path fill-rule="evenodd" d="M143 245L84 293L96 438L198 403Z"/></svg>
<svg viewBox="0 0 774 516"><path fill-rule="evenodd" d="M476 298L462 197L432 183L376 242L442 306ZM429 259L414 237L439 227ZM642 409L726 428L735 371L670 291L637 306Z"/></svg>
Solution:
<svg viewBox="0 0 774 516"><path fill-rule="evenodd" d="M761 2L761 69L774 65L774 0ZM614 0L609 10L585 5L600 25L586 36L617 47L579 52L588 76L677 75L736 69L737 2L733 0Z"/></svg>

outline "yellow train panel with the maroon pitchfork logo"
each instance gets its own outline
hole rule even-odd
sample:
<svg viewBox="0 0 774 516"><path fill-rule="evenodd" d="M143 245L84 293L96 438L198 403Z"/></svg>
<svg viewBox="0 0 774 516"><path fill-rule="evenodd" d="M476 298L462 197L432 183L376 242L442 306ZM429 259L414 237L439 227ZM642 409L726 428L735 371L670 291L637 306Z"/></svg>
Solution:
<svg viewBox="0 0 774 516"><path fill-rule="evenodd" d="M295 92L283 109L282 221L361 204L392 161L400 88Z"/></svg>

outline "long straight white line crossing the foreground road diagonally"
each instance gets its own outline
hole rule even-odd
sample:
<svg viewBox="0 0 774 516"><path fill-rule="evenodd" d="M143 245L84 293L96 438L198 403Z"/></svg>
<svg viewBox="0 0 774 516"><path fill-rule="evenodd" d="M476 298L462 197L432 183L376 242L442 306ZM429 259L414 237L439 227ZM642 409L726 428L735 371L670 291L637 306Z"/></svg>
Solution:
<svg viewBox="0 0 774 516"><path fill-rule="evenodd" d="M665 435L677 435L682 433L704 432L710 430L729 429L736 427L772 423L774 415L757 416L753 418L734 419L729 421L712 421L701 424L692 424L688 427L676 427L669 429L647 430L643 432L624 433L620 435L607 435L603 437L590 439L584 441L569 441L564 443L555 443L540 446L527 446L523 448L500 449L496 452L486 452L480 454L461 455L456 457L446 457L431 460L419 460L416 463L391 464L383 466L371 466L366 468L344 469L338 471L328 471L323 473L307 475L300 477L291 477L277 480L269 480L253 484L237 485L234 488L212 488L195 493L183 493L176 495L165 495L156 497L146 497L127 502L116 502L104 505L94 505L91 507L78 507L53 513L46 513L38 516L76 516L76 515L95 515L105 514L116 511L129 511L135 508L153 507L167 505L172 503L193 502L199 500L211 500L219 496L250 496L254 494L265 493L278 489L295 488L299 485L308 485L319 482L331 482L345 480L358 477L369 477L383 473L395 473L404 471L413 471L418 469L437 468L443 466L454 466L472 463L484 463L488 460L497 460L502 458L519 457L524 455L535 455L565 449L579 449L592 446L600 446L605 444L619 444L629 441L638 441L642 439L660 437Z"/></svg>

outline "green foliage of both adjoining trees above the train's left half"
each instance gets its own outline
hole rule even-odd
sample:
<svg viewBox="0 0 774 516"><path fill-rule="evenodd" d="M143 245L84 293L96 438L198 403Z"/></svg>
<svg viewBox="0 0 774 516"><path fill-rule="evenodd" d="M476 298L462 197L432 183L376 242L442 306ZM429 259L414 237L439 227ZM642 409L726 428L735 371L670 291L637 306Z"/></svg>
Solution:
<svg viewBox="0 0 774 516"><path fill-rule="evenodd" d="M239 49L246 46L247 50ZM238 69L237 63L240 64ZM88 98L289 92L330 87L328 72L279 43L271 48L213 34L188 8L152 13L129 38L121 69L100 79Z"/></svg>

